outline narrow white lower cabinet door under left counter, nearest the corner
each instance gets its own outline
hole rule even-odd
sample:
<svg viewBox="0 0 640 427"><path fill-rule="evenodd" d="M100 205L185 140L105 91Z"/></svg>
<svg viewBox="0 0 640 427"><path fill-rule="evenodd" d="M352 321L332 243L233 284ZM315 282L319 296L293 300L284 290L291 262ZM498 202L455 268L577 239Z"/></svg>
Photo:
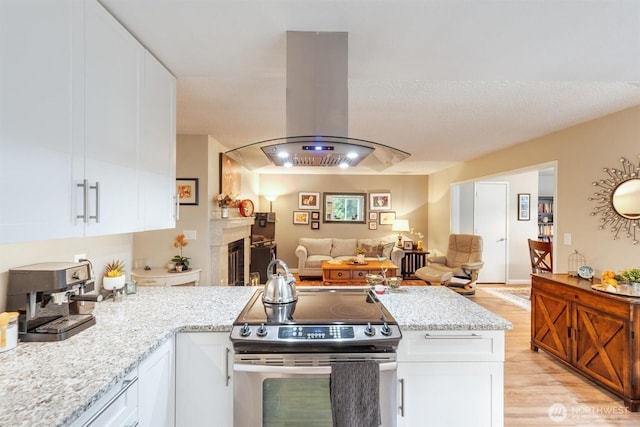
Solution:
<svg viewBox="0 0 640 427"><path fill-rule="evenodd" d="M174 340L158 347L138 367L138 426L173 426L175 419Z"/></svg>

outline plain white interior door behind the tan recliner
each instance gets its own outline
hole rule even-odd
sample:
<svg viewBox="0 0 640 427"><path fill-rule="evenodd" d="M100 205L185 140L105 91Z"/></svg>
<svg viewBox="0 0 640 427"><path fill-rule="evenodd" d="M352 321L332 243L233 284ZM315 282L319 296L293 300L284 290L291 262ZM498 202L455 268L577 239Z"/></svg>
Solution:
<svg viewBox="0 0 640 427"><path fill-rule="evenodd" d="M508 194L506 182L475 183L474 234L484 243L478 283L506 283Z"/></svg>

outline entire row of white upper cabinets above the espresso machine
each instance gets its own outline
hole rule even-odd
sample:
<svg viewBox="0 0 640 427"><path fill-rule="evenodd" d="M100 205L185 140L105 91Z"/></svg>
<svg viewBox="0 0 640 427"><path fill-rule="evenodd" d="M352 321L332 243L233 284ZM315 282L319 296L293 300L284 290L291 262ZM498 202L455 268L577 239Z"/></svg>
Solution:
<svg viewBox="0 0 640 427"><path fill-rule="evenodd" d="M0 24L0 244L173 227L173 76L96 0Z"/></svg>

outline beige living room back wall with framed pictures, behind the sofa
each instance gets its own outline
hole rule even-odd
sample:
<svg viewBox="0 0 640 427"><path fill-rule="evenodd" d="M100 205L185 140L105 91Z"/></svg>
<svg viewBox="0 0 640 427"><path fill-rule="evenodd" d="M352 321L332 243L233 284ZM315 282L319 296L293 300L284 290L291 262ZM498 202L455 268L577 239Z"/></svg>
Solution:
<svg viewBox="0 0 640 427"><path fill-rule="evenodd" d="M389 175L260 175L260 193L277 194L273 202L276 212L276 242L278 258L290 268L297 268L295 249L300 237L386 237L393 235L390 225L378 225L378 230L368 229L367 224L325 224L319 230L310 225L293 225L293 211L298 209L298 192L349 192L391 193L391 210L397 218L409 219L416 231L427 233L427 176ZM322 200L322 195L321 195ZM262 197L259 208L269 211L269 202ZM322 210L321 210L322 211ZM367 217L369 205L367 201ZM405 233L407 238L417 240ZM426 238L425 238L426 240Z"/></svg>

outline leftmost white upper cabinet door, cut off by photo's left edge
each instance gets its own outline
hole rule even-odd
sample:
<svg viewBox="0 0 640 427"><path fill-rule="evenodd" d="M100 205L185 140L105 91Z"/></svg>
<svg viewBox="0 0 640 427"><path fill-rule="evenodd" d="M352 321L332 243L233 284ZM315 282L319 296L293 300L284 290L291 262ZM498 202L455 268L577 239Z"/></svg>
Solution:
<svg viewBox="0 0 640 427"><path fill-rule="evenodd" d="M77 1L0 1L0 243L83 234L72 203L82 16Z"/></svg>

